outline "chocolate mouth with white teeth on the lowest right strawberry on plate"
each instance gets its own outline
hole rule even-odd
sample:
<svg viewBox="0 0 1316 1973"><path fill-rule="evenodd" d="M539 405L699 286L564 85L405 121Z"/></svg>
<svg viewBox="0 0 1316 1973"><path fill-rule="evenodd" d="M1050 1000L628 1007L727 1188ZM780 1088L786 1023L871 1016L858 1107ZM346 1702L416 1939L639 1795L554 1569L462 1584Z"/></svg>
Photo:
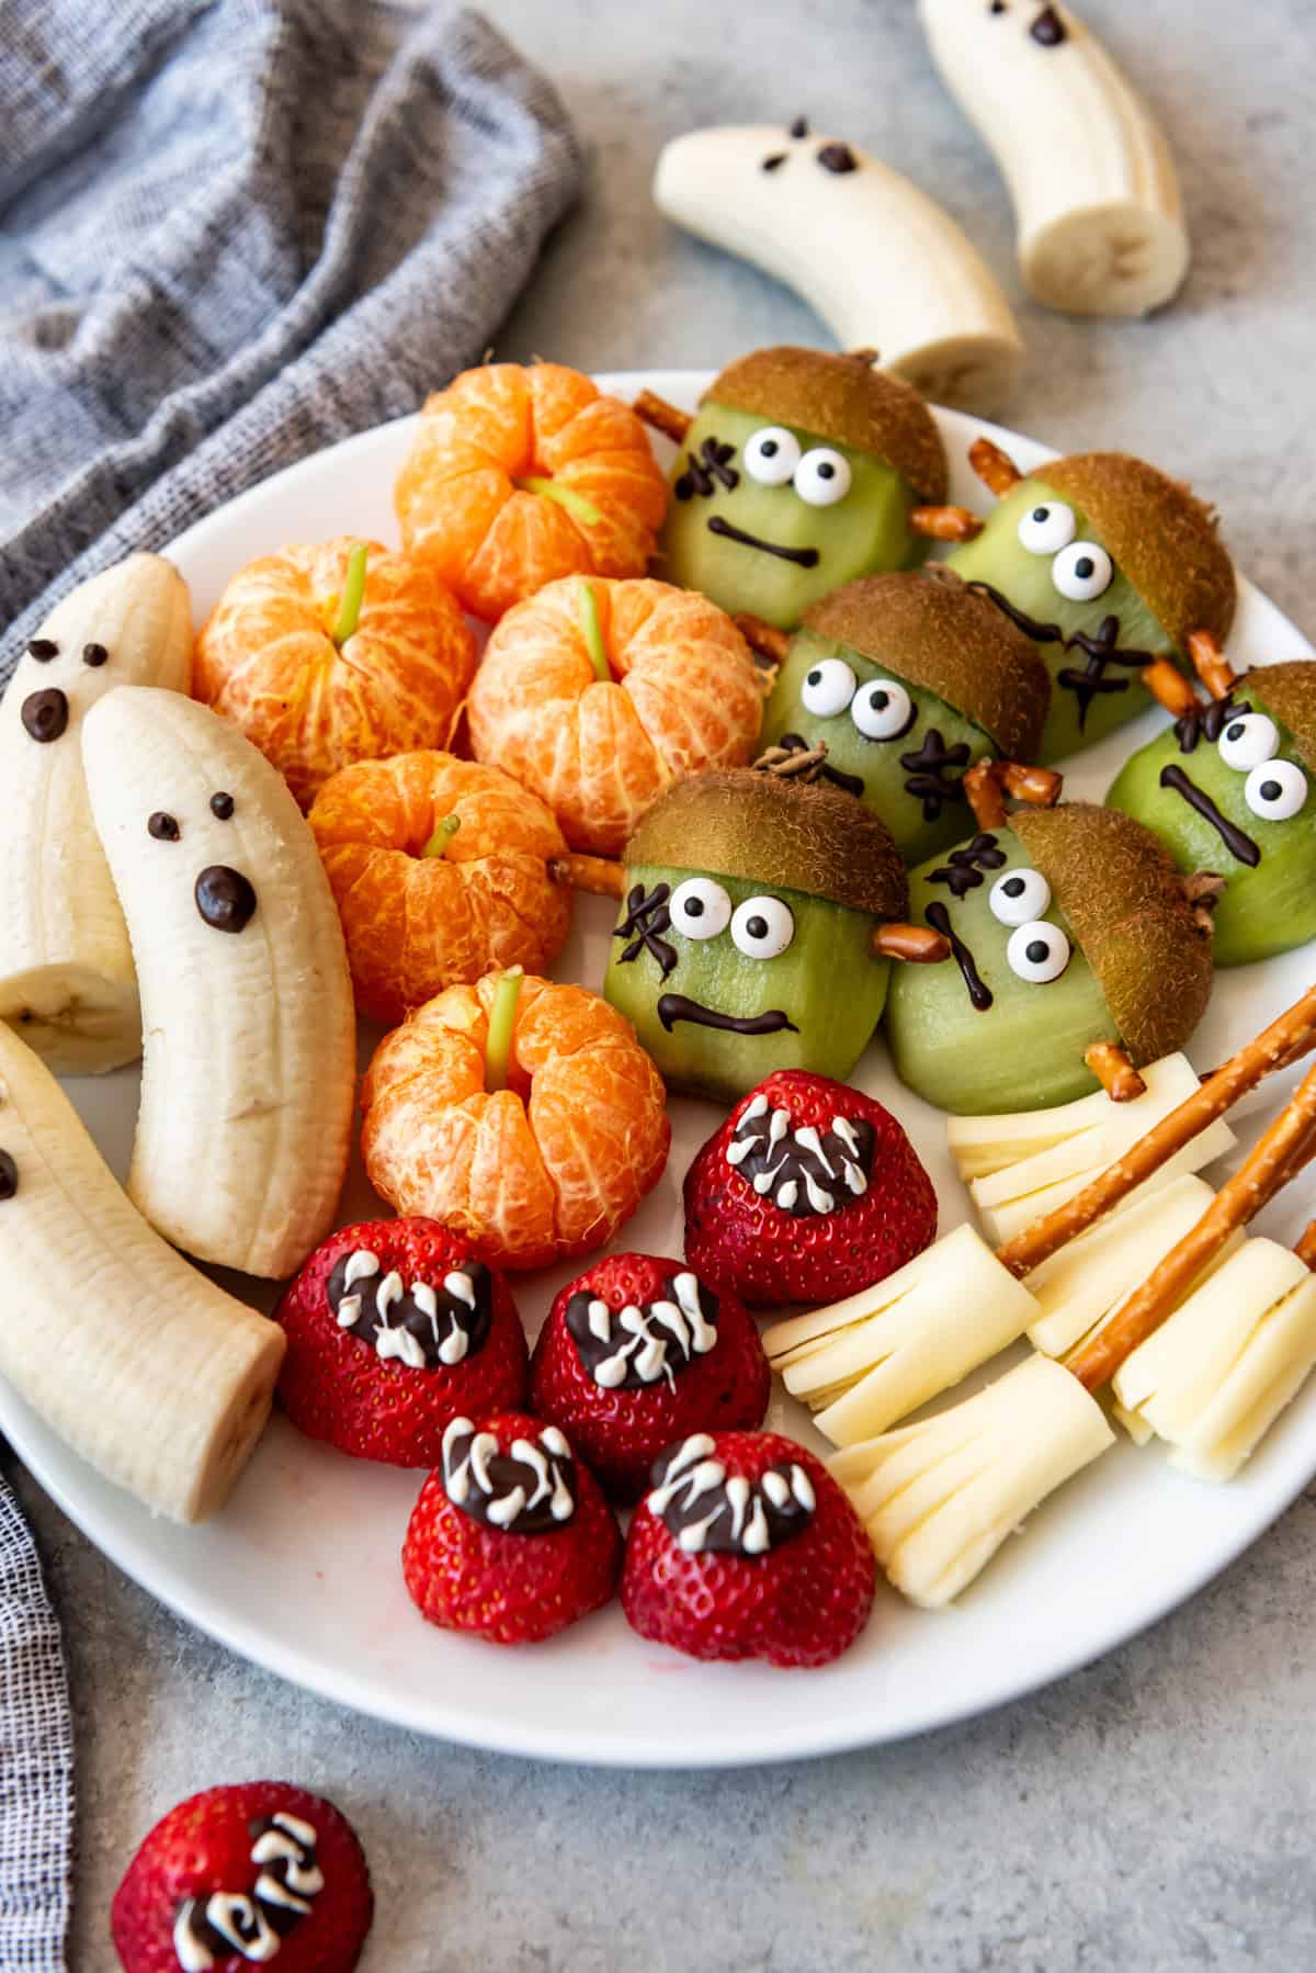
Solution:
<svg viewBox="0 0 1316 1973"><path fill-rule="evenodd" d="M663 1521L683 1555L754 1561L809 1527L817 1496L803 1466L791 1460L746 1480L728 1474L714 1450L708 1432L695 1432L669 1446L649 1474L649 1513Z"/></svg>

